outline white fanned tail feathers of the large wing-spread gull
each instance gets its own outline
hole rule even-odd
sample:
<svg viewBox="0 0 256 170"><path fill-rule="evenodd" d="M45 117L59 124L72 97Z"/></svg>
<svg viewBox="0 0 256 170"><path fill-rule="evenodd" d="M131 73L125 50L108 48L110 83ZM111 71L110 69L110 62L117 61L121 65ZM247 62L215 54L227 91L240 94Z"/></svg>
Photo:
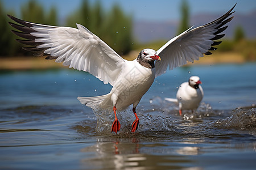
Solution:
<svg viewBox="0 0 256 170"><path fill-rule="evenodd" d="M84 104L90 108L96 108L96 107L108 108L112 106L110 104L110 101L111 101L110 94L106 94L102 96L94 96L94 97L77 97L77 99L80 101L81 104Z"/></svg>

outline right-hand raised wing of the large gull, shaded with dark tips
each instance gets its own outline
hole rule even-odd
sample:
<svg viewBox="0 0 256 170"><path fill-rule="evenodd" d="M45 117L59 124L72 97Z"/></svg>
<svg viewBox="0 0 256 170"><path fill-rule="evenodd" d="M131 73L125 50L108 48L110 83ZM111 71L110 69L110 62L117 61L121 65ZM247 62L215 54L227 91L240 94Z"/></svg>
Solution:
<svg viewBox="0 0 256 170"><path fill-rule="evenodd" d="M228 28L228 26L223 26L233 19L233 17L228 17L233 14L232 10L235 6L211 23L194 29L189 28L157 50L156 55L161 57L161 61L155 63L156 76L165 73L168 65L171 70L185 65L187 61L199 60L199 57L203 57L204 54L212 54L209 50L216 50L217 48L213 46L221 43L221 41L214 40L221 39L225 35L219 34Z"/></svg>

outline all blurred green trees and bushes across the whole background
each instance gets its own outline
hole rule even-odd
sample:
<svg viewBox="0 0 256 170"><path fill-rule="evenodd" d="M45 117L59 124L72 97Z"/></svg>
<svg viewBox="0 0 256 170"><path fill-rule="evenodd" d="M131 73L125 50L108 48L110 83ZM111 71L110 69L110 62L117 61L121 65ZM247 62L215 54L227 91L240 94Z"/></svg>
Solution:
<svg viewBox="0 0 256 170"><path fill-rule="evenodd" d="M183 0L181 2L180 12L181 19L177 28L178 33L189 28L189 6L187 1ZM12 28L8 24L10 19L7 14L18 16L30 22L61 25L57 19L58 11L54 6L46 10L43 5L31 0L20 7L19 16L15 14L15 11L5 11L0 0L0 31L2 33L0 36L0 57L31 56L31 53L23 50L21 48L22 45L15 41L18 37L10 31ZM114 5L108 11L104 11L100 1L94 1L93 4L90 4L87 0L84 0L79 9L69 15L62 25L76 27L76 23L84 25L121 55L143 48L158 49L166 43L166 40L157 40L148 44L135 42L135 37L133 37L133 16L125 14L118 5ZM217 51L240 53L245 59L255 61L255 46L256 41L245 39L243 28L238 25L234 31L233 39L222 39L222 44L217 47Z"/></svg>

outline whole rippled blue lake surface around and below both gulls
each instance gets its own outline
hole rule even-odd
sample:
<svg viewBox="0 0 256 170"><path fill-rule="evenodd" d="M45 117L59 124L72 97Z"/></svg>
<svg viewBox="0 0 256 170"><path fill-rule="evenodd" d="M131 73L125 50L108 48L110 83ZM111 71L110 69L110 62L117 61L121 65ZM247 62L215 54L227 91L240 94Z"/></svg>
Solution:
<svg viewBox="0 0 256 170"><path fill-rule="evenodd" d="M73 69L0 73L0 169L255 169L256 63L193 65L155 79L137 107L114 114L81 105L77 96L111 86ZM204 99L181 117L177 87L200 76Z"/></svg>

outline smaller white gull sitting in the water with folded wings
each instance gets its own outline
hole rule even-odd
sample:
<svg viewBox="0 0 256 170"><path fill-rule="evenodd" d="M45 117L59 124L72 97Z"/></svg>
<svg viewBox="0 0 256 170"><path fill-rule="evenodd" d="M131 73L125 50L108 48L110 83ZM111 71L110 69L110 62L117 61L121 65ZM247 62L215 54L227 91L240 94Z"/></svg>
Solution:
<svg viewBox="0 0 256 170"><path fill-rule="evenodd" d="M201 87L202 82L199 76L191 76L188 82L180 84L177 90L176 99L164 98L165 100L179 103L179 113L182 110L194 110L199 107L201 100L204 97L204 91Z"/></svg>

